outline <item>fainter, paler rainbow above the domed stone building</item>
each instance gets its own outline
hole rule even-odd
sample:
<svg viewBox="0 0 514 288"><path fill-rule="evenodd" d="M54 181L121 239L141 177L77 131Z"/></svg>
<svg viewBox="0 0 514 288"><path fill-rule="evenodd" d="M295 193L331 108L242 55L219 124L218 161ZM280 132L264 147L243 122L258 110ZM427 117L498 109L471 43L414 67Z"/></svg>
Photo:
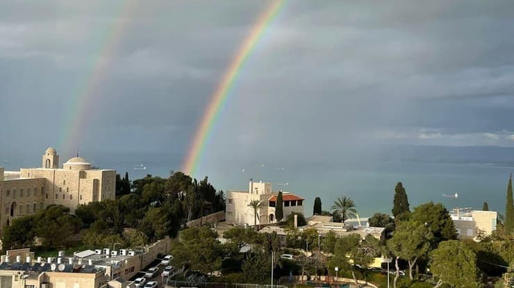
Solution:
<svg viewBox="0 0 514 288"><path fill-rule="evenodd" d="M131 19L135 10L135 3L137 1L126 0L117 8L121 11L118 17L109 28L106 28L105 33L102 33L97 41L99 52L94 53L95 58L90 61L90 65L86 69L88 76L83 78L83 83L78 85L76 93L72 94L70 109L67 110L65 117L67 121L61 130L57 145L58 149L63 149L65 153L78 151L82 140L81 135L85 132L83 131L85 123L93 116L92 112L95 110L93 100L99 99L95 92L101 81L106 79L113 56L127 31L128 20Z"/></svg>

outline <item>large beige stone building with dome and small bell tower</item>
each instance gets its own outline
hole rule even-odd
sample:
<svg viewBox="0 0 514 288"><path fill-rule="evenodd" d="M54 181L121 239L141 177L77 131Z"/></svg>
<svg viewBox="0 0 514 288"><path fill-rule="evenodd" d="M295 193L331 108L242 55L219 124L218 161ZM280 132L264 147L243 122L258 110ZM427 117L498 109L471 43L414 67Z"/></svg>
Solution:
<svg viewBox="0 0 514 288"><path fill-rule="evenodd" d="M69 159L59 168L59 155L49 148L42 155L40 168L13 172L0 167L0 226L52 204L74 212L81 204L114 199L115 185L115 170L94 169L80 157Z"/></svg>

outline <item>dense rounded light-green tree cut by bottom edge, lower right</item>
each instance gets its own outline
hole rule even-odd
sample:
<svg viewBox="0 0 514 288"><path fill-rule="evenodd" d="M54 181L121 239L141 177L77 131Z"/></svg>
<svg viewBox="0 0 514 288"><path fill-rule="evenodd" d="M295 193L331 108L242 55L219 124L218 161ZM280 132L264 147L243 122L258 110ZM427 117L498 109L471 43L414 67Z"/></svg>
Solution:
<svg viewBox="0 0 514 288"><path fill-rule="evenodd" d="M430 255L430 269L438 278L436 287L449 284L456 288L479 288L476 255L464 242L449 240L439 244Z"/></svg>

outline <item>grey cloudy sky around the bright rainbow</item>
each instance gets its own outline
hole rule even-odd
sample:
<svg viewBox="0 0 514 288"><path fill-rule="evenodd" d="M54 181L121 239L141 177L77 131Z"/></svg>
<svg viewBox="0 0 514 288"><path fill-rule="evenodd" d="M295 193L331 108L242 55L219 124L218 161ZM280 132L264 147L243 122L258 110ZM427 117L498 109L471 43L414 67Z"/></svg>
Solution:
<svg viewBox="0 0 514 288"><path fill-rule="evenodd" d="M179 165L271 3L0 0L0 153L152 151ZM514 146L512 51L513 1L285 1L204 162Z"/></svg>

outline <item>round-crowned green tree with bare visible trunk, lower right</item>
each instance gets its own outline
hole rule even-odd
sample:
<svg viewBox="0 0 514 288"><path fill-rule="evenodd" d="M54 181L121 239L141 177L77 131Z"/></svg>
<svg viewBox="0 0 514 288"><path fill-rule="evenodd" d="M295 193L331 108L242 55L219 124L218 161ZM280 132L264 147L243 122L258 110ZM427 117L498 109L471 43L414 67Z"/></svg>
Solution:
<svg viewBox="0 0 514 288"><path fill-rule="evenodd" d="M408 276L411 280L417 260L428 256L432 238L431 230L424 223L404 221L399 223L395 235L388 240L389 250L395 251L395 256L407 260Z"/></svg>

